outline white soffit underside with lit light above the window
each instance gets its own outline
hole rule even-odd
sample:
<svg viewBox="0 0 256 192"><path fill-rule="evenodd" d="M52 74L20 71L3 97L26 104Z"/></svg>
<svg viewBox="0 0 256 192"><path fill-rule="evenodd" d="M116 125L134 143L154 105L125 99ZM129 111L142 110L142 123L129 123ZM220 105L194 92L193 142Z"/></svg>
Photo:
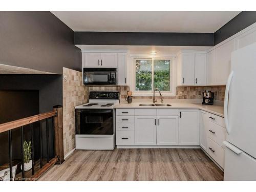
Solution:
<svg viewBox="0 0 256 192"><path fill-rule="evenodd" d="M181 50L208 50L211 47L204 46L114 46L114 45L76 45L80 49L88 50L127 50L130 54L151 54L156 51L157 55L177 54Z"/></svg>

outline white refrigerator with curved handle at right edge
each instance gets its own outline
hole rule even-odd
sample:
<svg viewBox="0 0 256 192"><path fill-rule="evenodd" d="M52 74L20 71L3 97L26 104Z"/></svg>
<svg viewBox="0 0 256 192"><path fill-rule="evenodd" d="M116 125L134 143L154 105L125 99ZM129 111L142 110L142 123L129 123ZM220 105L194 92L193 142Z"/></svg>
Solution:
<svg viewBox="0 0 256 192"><path fill-rule="evenodd" d="M232 52L224 117L224 181L256 181L256 43Z"/></svg>

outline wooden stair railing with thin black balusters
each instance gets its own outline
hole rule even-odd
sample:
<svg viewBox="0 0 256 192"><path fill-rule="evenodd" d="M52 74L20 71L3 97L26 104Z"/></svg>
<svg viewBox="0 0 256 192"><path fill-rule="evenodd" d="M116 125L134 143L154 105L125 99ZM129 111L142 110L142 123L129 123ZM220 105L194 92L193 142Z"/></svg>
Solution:
<svg viewBox="0 0 256 192"><path fill-rule="evenodd" d="M49 158L49 122L48 119L52 118L52 126L54 129L54 152L55 157ZM43 165L42 161L42 136L41 136L41 120L46 120L46 143L47 143L47 163ZM39 162L34 161L34 139L33 139L33 123L39 121L39 138L40 138L40 159ZM30 124L30 132L31 132L31 160L32 160L32 170L31 177L25 178L25 167L24 167L24 126ZM8 142L9 142L9 164L3 165L1 167L9 167L10 169L10 181L15 180L12 176L12 167L13 167L13 159L12 159L12 130L20 127L20 135L21 135L21 144L22 144L22 174L21 179L18 180L36 180L42 174L44 174L52 165L61 164L64 161L63 154L63 129L62 129L62 106L56 105L53 107L53 111L43 114L34 115L31 117L26 117L23 119L10 121L7 123L0 124L0 133L8 131ZM35 167L38 166L38 167ZM35 169L37 169L35 173Z"/></svg>

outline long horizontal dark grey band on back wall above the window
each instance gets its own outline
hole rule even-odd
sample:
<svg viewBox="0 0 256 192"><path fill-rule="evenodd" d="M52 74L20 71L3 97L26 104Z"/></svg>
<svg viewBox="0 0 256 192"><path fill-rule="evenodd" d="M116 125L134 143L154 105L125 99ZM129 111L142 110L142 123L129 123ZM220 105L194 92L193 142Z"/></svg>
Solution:
<svg viewBox="0 0 256 192"><path fill-rule="evenodd" d="M213 33L74 32L75 45L213 46Z"/></svg>

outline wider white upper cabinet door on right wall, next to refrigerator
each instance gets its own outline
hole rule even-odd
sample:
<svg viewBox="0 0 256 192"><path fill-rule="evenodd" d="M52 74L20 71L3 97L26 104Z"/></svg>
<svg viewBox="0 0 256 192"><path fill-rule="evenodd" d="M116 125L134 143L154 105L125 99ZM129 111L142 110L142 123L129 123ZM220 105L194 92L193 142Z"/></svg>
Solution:
<svg viewBox="0 0 256 192"><path fill-rule="evenodd" d="M234 39L216 49L216 84L227 83L230 73L231 52L234 50Z"/></svg>

